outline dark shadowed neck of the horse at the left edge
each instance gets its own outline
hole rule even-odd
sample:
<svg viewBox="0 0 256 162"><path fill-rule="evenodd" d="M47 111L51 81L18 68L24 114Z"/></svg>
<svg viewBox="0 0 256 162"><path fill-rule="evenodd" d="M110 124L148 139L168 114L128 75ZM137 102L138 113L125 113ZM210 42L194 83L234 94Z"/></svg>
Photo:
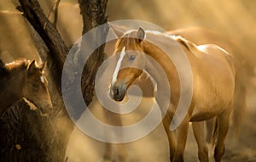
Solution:
<svg viewBox="0 0 256 162"><path fill-rule="evenodd" d="M24 85L24 72L5 78L0 81L0 115L9 108L9 106L22 98L22 87Z"/></svg>

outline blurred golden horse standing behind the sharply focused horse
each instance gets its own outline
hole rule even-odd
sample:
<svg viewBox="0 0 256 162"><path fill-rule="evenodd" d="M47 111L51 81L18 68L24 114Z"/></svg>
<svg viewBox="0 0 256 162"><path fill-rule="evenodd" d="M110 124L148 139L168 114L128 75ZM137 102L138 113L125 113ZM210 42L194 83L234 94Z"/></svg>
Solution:
<svg viewBox="0 0 256 162"><path fill-rule="evenodd" d="M128 29L125 28L125 26L121 25L113 25L112 29L118 37L123 36L125 31L128 31ZM241 45L239 45L238 42L230 40L230 38L219 34L218 32L207 30L201 27L182 28L174 31L168 31L167 33L175 36L182 36L183 38L189 40L190 42L194 42L197 45L215 44L218 47L224 48L228 53L233 55L237 68L237 81L231 122L232 129L230 130L230 133L232 137L238 137L241 129L242 119L244 117L245 110L247 107L246 93L247 86L249 85L249 75L252 74L253 69L249 66L249 64L247 64L247 59L244 56L244 50L241 49ZM113 54L114 43L115 42L107 43L105 47L105 53L107 53L108 55ZM148 87L150 79L148 79L147 77L146 79L143 79L144 77L141 78L141 86ZM152 91L152 89L147 88L147 92L145 92L145 94L147 95L147 93L150 91ZM211 142L212 140L212 120L207 120L207 142ZM193 126L195 124L197 125L197 123L194 123Z"/></svg>

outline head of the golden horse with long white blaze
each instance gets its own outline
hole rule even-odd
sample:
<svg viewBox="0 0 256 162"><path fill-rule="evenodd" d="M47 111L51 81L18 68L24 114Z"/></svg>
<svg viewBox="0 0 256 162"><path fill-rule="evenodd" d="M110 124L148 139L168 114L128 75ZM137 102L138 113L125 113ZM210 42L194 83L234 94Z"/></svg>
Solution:
<svg viewBox="0 0 256 162"><path fill-rule="evenodd" d="M137 31L125 33L116 44L114 53L119 55L119 59L110 87L110 95L115 101L122 101L126 90L143 74L146 64L143 52L144 37L145 31L139 28Z"/></svg>

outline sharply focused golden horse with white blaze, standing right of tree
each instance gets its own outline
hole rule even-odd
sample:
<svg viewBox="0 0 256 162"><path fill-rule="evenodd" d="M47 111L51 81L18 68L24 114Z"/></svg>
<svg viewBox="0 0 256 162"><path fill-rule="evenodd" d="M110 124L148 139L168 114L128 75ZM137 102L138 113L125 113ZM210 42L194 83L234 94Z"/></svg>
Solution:
<svg viewBox="0 0 256 162"><path fill-rule="evenodd" d="M185 115L181 125L177 127L177 146L173 141L174 139L169 127L179 102L179 77L172 60L159 47L148 42L148 38L154 38L154 40L164 46L178 43L186 54L192 70L193 96L188 113ZM152 57L165 70L170 89L172 89L172 98L170 98L172 107L169 107L163 119L163 124L169 137L172 161L183 161L189 121L196 123L198 121L210 120L213 117L218 119L218 137L214 158L216 161L220 161L224 155L224 138L229 128L236 84L236 69L232 56L215 45L196 46L180 36L171 36L155 31L144 31L142 28L139 28L138 31L128 31L124 36L121 36L116 44L114 53L121 53L118 61L119 71L114 76L114 81L110 87L112 97L116 101L123 100L127 89L143 74L143 70L152 70L152 67L147 67L152 63L148 63L150 60L147 59L146 55ZM135 64L140 64L140 67L143 65L143 70L134 68L122 69L122 65L127 64L127 62L132 64L133 67L138 67ZM152 74L152 71L149 71L149 74L150 72ZM152 77L154 78L154 74ZM159 80L159 78L154 79ZM200 128L201 125L197 126L195 124L194 133L196 140L201 138L201 133L204 130ZM205 141L197 142L199 143L199 148L201 148L201 142L205 143ZM204 152L201 154L207 156ZM201 156L199 158L201 159Z"/></svg>

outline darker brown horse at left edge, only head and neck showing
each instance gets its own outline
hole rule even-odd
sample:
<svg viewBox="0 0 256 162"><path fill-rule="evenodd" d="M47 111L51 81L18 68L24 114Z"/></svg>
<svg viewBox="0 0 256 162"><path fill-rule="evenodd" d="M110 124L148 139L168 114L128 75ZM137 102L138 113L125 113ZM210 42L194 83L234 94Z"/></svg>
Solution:
<svg viewBox="0 0 256 162"><path fill-rule="evenodd" d="M0 116L16 101L26 98L39 109L52 108L44 64L35 60L15 60L3 64L0 60Z"/></svg>

